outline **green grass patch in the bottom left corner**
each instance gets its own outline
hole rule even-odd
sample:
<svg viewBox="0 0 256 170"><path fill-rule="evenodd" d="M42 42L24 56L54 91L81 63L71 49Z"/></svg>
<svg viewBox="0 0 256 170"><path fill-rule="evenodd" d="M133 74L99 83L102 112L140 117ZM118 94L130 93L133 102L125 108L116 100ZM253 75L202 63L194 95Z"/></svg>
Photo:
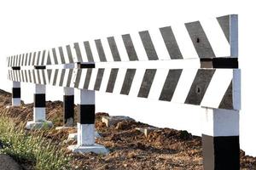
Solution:
<svg viewBox="0 0 256 170"><path fill-rule="evenodd" d="M0 116L1 153L12 156L18 162L28 162L35 169L71 169L71 158L61 149L61 144L52 144L42 133L27 133L9 117Z"/></svg>

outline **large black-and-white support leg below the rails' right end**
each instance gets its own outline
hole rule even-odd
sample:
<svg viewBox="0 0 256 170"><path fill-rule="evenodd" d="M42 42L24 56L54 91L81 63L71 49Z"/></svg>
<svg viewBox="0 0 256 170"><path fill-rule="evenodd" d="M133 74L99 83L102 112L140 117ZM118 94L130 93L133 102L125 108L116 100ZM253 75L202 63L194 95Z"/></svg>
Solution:
<svg viewBox="0 0 256 170"><path fill-rule="evenodd" d="M206 108L202 122L204 169L240 169L239 111Z"/></svg>

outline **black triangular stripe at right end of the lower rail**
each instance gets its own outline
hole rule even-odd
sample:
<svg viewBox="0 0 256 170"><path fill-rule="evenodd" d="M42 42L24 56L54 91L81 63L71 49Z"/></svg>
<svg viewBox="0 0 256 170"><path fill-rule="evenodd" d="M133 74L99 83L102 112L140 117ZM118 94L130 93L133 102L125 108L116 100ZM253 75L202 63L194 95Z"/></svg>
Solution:
<svg viewBox="0 0 256 170"><path fill-rule="evenodd" d="M218 105L219 109L234 109L233 108L233 86L232 82L230 82L229 88L226 90L223 99L221 100L220 104Z"/></svg>

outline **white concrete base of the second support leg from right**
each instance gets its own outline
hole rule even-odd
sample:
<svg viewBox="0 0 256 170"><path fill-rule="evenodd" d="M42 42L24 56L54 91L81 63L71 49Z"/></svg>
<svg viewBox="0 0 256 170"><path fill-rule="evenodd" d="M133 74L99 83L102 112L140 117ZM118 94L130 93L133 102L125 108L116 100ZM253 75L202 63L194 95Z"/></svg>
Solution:
<svg viewBox="0 0 256 170"><path fill-rule="evenodd" d="M96 154L103 154L107 155L108 150L101 144L93 144L93 145L88 145L88 146L83 146L83 145L70 145L67 147L68 150L72 150L75 153L96 153Z"/></svg>

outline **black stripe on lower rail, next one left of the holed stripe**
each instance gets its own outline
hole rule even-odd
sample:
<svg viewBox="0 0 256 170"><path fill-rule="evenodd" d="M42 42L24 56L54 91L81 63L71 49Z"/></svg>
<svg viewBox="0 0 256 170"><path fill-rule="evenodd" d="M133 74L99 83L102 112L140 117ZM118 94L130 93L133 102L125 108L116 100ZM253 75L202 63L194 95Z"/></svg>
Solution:
<svg viewBox="0 0 256 170"><path fill-rule="evenodd" d="M181 76L182 69L177 70L169 70L168 75L166 77L166 82L160 94L160 100L171 101L172 96L177 87L177 82L179 77Z"/></svg>

